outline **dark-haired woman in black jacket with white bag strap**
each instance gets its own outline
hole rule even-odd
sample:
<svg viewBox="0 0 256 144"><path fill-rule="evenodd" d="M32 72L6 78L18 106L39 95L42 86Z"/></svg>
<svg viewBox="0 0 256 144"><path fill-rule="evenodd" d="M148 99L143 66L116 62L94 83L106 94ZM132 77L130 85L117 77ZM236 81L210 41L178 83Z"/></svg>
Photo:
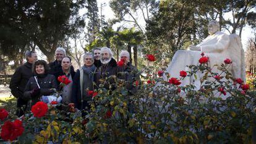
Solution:
<svg viewBox="0 0 256 144"><path fill-rule="evenodd" d="M54 75L48 74L49 67L44 60L35 61L32 66L32 72L35 76L30 77L25 87L23 95L24 100L32 100L28 107L40 101L41 96L53 95L56 92L57 82Z"/></svg>

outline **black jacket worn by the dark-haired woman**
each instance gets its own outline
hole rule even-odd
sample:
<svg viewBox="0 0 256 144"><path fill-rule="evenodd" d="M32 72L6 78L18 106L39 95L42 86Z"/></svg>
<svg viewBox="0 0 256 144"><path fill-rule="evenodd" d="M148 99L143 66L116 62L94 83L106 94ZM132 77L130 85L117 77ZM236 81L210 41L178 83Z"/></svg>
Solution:
<svg viewBox="0 0 256 144"><path fill-rule="evenodd" d="M33 89L38 88L38 85L36 84L35 77L30 77L28 80L28 83L24 90L23 100L32 100L32 105L35 104L40 100L40 96L48 96L52 95L54 93L54 90L52 88L57 89L57 82L54 75L45 74L45 75L38 75L37 76L38 84L40 85L40 93L36 96L32 96L31 93Z"/></svg>

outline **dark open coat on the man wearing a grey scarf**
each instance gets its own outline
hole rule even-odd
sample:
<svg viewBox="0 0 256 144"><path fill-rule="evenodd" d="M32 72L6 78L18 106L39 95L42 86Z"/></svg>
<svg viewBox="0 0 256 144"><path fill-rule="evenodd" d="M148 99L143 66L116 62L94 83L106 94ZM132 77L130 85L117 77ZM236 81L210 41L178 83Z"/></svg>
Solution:
<svg viewBox="0 0 256 144"><path fill-rule="evenodd" d="M93 74L93 83L95 83L95 70L92 72ZM88 81L88 80L86 80ZM90 90L90 89L89 89ZM94 90L94 85L92 85L92 89ZM92 99L92 96L83 97L83 69L82 67L77 70L75 73L75 77L72 85L72 96L71 101L75 104L75 108L77 109L85 109L85 107L90 108L88 101Z"/></svg>

